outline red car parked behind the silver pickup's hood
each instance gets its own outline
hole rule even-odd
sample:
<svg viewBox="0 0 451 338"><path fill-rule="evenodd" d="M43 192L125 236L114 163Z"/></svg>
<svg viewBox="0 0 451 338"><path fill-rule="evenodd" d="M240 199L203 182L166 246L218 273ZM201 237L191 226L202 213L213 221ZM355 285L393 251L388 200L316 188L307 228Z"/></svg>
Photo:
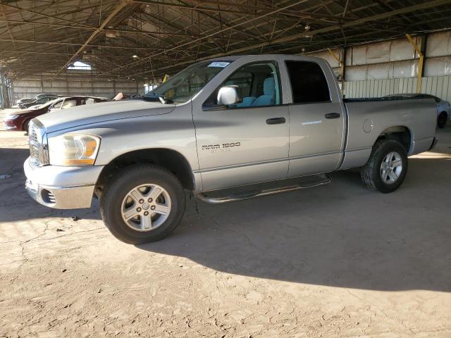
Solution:
<svg viewBox="0 0 451 338"><path fill-rule="evenodd" d="M65 96L58 97L36 108L27 108L20 111L13 111L4 117L5 130L23 130L28 132L28 123L36 116L49 113L58 109L66 109L82 104L97 104L99 102L110 101L104 97L94 96Z"/></svg>

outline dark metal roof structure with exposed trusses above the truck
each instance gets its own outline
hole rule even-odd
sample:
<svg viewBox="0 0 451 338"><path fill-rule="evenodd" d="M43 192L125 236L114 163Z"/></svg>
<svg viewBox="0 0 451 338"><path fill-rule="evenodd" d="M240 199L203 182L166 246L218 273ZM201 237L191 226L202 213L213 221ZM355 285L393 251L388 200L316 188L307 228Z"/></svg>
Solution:
<svg viewBox="0 0 451 338"><path fill-rule="evenodd" d="M302 54L451 26L451 0L36 0L0 2L9 78L152 79L233 54ZM92 76L92 75L91 75Z"/></svg>

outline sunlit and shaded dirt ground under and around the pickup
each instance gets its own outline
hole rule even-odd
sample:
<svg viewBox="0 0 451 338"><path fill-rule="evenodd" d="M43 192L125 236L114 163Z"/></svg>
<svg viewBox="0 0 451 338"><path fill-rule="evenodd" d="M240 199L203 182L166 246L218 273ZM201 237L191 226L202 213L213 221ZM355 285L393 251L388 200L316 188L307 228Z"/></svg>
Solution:
<svg viewBox="0 0 451 338"><path fill-rule="evenodd" d="M0 337L451 337L451 127L438 136L393 194L347 170L300 192L192 199L171 237L131 246L98 204L32 201L27 139L0 131Z"/></svg>

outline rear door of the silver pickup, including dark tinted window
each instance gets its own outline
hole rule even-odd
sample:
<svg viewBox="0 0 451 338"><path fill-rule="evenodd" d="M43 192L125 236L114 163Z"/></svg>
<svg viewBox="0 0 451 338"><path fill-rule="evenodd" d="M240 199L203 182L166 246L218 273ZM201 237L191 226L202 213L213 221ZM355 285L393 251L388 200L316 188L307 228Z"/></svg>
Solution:
<svg viewBox="0 0 451 338"><path fill-rule="evenodd" d="M285 64L292 87L288 176L335 170L345 141L345 117L334 75L314 61Z"/></svg>

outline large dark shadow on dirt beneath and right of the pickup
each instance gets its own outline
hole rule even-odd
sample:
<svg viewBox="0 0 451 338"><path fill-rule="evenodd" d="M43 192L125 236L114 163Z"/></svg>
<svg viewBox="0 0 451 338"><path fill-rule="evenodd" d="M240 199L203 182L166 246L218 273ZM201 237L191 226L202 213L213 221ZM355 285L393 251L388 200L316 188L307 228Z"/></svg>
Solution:
<svg viewBox="0 0 451 338"><path fill-rule="evenodd" d="M351 170L328 187L221 206L191 199L173 235L138 247L236 275L450 292L450 169L450 159L411 159L393 194L364 189Z"/></svg>

